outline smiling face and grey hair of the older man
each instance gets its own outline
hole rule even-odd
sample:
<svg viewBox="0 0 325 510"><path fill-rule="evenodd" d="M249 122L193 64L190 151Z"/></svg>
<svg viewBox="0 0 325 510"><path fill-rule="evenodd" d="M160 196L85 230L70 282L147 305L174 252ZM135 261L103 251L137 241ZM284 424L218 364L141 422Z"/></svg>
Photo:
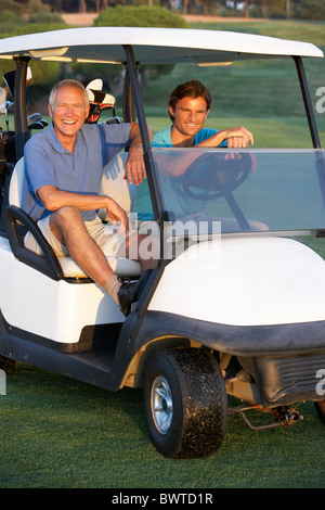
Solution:
<svg viewBox="0 0 325 510"><path fill-rule="evenodd" d="M82 90L66 86L56 90L53 107L49 106L58 138L75 138L87 118Z"/></svg>

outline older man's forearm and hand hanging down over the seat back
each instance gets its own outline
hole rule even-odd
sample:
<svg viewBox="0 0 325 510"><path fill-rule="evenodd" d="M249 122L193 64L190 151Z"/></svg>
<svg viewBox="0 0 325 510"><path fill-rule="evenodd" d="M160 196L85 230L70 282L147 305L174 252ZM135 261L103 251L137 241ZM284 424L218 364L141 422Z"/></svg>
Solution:
<svg viewBox="0 0 325 510"><path fill-rule="evenodd" d="M147 126L147 128L150 140L152 140L152 128L150 126ZM134 184L140 184L143 179L146 178L146 171L143 160L143 146L138 124L131 124L130 140L131 144L129 149L129 157L126 163L125 179L128 180L129 184L132 184L132 181L134 181Z"/></svg>

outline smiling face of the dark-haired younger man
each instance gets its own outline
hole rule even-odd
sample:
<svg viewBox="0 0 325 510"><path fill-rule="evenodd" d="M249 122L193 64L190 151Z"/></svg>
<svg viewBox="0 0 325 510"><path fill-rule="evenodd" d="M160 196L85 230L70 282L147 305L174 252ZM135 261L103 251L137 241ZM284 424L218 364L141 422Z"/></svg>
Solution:
<svg viewBox="0 0 325 510"><path fill-rule="evenodd" d="M204 98L183 98L177 102L173 115L173 126L183 135L194 136L204 127L209 111Z"/></svg>

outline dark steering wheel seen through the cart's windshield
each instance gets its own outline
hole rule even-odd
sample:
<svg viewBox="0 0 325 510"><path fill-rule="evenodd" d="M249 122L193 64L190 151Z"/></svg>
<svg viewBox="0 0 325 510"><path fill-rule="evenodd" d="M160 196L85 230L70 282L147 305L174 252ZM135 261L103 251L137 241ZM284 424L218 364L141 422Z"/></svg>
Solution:
<svg viewBox="0 0 325 510"><path fill-rule="evenodd" d="M231 157L231 155L234 157ZM183 189L194 200L219 199L238 188L252 168L249 153L211 153L197 157L183 175Z"/></svg>

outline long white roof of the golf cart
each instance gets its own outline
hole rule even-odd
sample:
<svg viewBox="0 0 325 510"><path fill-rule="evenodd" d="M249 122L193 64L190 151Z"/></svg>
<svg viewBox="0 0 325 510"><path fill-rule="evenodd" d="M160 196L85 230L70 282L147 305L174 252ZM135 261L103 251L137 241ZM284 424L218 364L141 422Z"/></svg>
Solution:
<svg viewBox="0 0 325 510"><path fill-rule="evenodd" d="M30 56L63 62L126 60L123 44L133 47L145 64L195 62L218 65L243 59L324 56L310 42L222 30L186 28L87 27L66 28L0 40L0 59Z"/></svg>

